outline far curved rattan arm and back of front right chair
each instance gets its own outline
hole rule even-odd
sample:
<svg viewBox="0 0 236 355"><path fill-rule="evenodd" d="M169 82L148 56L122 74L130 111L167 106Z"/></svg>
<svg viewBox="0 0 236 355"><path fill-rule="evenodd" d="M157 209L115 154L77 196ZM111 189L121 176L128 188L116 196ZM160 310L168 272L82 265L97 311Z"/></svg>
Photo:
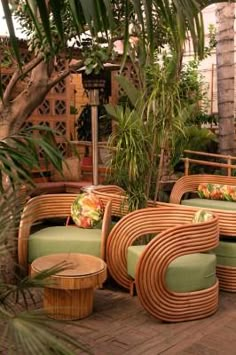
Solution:
<svg viewBox="0 0 236 355"><path fill-rule="evenodd" d="M107 240L108 270L116 282L126 289L130 288L131 279L127 274L126 260L129 246L143 235L157 234L180 224L190 224L196 210L188 207L148 207L124 216L114 226Z"/></svg>

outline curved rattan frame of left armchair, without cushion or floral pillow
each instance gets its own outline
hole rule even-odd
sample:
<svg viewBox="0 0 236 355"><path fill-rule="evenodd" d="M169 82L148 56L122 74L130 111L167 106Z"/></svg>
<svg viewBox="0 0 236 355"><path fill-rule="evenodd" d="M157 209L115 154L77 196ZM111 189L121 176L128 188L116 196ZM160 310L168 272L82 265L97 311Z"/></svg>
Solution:
<svg viewBox="0 0 236 355"><path fill-rule="evenodd" d="M28 239L33 223L47 219L68 217L71 214L71 205L77 194L48 194L31 198L25 205L21 216L18 234L18 262L25 270L28 268ZM106 240L110 232L111 202L105 207L101 229L101 255L106 257ZM78 231L79 233L79 231Z"/></svg>

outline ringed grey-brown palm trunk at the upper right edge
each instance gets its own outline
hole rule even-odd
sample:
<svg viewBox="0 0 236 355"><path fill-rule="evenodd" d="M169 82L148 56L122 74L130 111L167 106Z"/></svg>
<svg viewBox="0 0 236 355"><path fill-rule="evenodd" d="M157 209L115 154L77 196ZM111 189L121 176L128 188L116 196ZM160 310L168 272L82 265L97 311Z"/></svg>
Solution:
<svg viewBox="0 0 236 355"><path fill-rule="evenodd" d="M216 8L217 92L219 113L219 152L235 153L234 129L234 9L232 3L221 3Z"/></svg>

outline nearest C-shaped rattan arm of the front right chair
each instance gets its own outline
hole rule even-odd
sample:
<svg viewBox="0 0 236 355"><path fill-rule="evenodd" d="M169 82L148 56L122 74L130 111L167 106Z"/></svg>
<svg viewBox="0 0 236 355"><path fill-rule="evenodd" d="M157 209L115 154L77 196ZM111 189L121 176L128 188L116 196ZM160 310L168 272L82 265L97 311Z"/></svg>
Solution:
<svg viewBox="0 0 236 355"><path fill-rule="evenodd" d="M154 317L171 322L203 318L217 309L218 281L208 289L177 293L166 288L169 264L179 256L218 245L218 218L172 227L155 237L141 255L135 284L142 306Z"/></svg>

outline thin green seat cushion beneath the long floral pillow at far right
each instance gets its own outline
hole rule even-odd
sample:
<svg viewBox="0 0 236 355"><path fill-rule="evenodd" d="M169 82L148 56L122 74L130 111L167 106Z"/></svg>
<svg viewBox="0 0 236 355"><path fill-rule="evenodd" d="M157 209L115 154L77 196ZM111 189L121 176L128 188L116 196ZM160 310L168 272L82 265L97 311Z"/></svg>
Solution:
<svg viewBox="0 0 236 355"><path fill-rule="evenodd" d="M190 198L187 200L182 200L181 205L203 208L216 208L219 210L236 210L236 202L208 200L204 198Z"/></svg>

